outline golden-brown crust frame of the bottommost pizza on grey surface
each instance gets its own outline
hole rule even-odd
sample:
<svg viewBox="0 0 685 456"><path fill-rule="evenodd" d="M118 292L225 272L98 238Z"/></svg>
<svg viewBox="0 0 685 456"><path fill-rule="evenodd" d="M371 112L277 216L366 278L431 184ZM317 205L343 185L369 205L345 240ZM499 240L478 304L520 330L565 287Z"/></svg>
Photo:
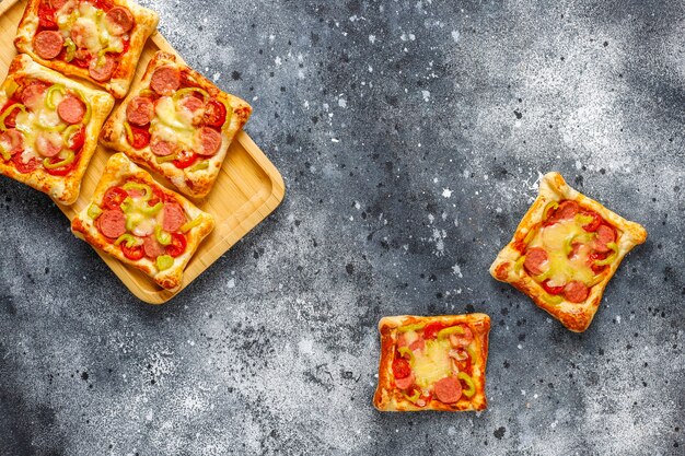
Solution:
<svg viewBox="0 0 685 456"><path fill-rule="evenodd" d="M472 360L473 381L476 393L472 398L462 398L455 404L443 404L432 399L426 407L417 407L397 389L393 381L393 360L397 346L397 328L407 325L428 325L441 323L445 326L458 324L467 325L476 343L477 359ZM487 408L485 396L485 370L488 360L488 335L490 331L490 317L485 314L467 315L442 315L422 317L414 315L399 315L383 317L379 321L381 334L381 361L379 364L379 385L373 396L373 406L380 411L480 411Z"/></svg>

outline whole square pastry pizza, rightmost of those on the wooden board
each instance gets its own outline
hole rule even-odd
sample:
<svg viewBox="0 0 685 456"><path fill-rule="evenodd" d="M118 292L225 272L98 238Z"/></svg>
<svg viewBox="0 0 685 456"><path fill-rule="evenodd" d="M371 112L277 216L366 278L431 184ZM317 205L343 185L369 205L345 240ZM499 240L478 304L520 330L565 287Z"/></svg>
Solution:
<svg viewBox="0 0 685 456"><path fill-rule="evenodd" d="M243 100L159 51L103 127L101 143L201 198L251 113Z"/></svg>

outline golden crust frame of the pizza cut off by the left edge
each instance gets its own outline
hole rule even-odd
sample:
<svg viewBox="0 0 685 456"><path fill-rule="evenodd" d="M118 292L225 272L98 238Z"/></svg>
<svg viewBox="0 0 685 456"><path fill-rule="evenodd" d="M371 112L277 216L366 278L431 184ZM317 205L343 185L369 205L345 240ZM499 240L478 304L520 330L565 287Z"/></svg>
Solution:
<svg viewBox="0 0 685 456"><path fill-rule="evenodd" d="M89 89L56 71L44 68L34 62L31 57L22 54L12 60L8 78L0 86L0 106L4 106L8 102L10 86L23 78L62 84L67 89L80 91L91 104L92 116L85 127L85 142L79 153L79 162L67 176L54 176L42 166L31 173L20 173L13 164L2 160L0 160L0 173L49 195L61 204L72 204L79 198L81 180L95 153L100 129L114 106L114 98L106 92Z"/></svg>

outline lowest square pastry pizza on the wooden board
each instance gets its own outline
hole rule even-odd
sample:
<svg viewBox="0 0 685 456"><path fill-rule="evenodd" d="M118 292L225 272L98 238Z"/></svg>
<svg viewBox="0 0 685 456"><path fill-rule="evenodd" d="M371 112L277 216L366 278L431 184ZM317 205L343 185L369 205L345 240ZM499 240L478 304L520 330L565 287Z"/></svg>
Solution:
<svg viewBox="0 0 685 456"><path fill-rule="evenodd" d="M172 291L213 227L213 217L159 185L120 153L107 161L91 204L71 222L77 237Z"/></svg>

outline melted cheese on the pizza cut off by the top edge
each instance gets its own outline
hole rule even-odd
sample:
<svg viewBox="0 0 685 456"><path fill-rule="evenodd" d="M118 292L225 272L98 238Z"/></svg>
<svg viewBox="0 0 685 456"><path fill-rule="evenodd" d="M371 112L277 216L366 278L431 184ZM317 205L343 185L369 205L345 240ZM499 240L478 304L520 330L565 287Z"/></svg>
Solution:
<svg viewBox="0 0 685 456"><path fill-rule="evenodd" d="M94 56L100 51L121 52L124 36L112 35L105 24L105 13L88 2L68 1L57 11L57 25L62 36ZM73 32L73 33L72 33Z"/></svg>

